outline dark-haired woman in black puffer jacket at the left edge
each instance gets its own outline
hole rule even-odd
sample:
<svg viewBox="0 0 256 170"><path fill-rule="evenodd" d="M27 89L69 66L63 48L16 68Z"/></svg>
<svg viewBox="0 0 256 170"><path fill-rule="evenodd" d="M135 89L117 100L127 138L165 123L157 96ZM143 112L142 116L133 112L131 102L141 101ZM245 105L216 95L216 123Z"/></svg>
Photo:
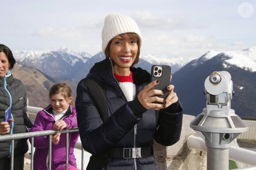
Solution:
<svg viewBox="0 0 256 170"><path fill-rule="evenodd" d="M11 70L15 65L11 50L0 44L0 135L28 132L32 127L26 114L26 91L23 83L13 78ZM5 121L5 111L9 119ZM27 139L14 141L14 170L23 170L24 154L28 151ZM0 142L0 169L10 170L11 141Z"/></svg>

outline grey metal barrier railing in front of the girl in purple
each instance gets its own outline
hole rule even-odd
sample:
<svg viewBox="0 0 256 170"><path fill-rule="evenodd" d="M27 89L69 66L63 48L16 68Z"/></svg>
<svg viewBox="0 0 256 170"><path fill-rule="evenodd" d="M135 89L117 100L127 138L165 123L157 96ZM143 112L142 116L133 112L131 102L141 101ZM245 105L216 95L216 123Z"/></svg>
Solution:
<svg viewBox="0 0 256 170"><path fill-rule="evenodd" d="M23 139L23 138L30 138L31 137L31 166L30 169L33 170L34 166L34 137L38 136L49 136L49 162L48 162L48 167L49 170L51 170L51 155L52 155L52 135L56 133L61 133L61 134L66 134L66 170L68 170L68 133L73 133L73 132L78 132L78 128L74 129L67 129L67 130L62 130L62 131L57 131L57 130L44 130L44 131L36 131L36 132L26 132L26 133L19 133L19 134L7 134L7 135L2 135L0 137L0 141L8 141L11 140L11 170L13 170L13 163L14 163L14 140L15 139ZM79 144L79 143L78 143ZM80 143L81 144L81 143ZM77 146L75 146L77 148ZM82 170L84 167L84 161L83 161L83 156L84 156L84 149L82 145L79 145L79 149L81 149L82 152Z"/></svg>

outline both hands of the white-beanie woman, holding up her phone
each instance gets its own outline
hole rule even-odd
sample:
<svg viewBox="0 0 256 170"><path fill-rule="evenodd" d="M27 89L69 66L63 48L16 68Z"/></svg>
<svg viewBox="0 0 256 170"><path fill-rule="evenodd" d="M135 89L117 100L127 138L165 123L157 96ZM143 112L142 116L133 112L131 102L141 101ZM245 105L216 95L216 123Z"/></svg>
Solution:
<svg viewBox="0 0 256 170"><path fill-rule="evenodd" d="M170 80L172 79L172 76L170 77ZM174 86L169 85L167 86L167 90L169 90L169 95L164 98L160 98L155 95L163 95L162 90L156 90L152 89L154 86L156 86L159 81L152 81L147 86L144 87L143 90L141 90L138 94L138 99L141 105L143 105L146 109L154 108L155 110L160 110L166 107L169 107L169 105L172 105L173 103L178 101L177 94L173 91ZM161 102L163 104L157 104L153 102Z"/></svg>

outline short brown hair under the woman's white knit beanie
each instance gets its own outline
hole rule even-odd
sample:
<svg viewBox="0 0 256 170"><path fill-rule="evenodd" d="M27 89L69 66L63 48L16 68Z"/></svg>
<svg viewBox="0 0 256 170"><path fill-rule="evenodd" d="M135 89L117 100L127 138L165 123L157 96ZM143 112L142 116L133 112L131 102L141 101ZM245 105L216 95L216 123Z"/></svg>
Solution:
<svg viewBox="0 0 256 170"><path fill-rule="evenodd" d="M133 40L137 41L137 45L138 45L137 56L136 56L135 60L132 63L132 66L131 66L131 67L134 67L134 65L138 64L138 62L139 62L140 44L141 44L139 36L136 33L122 33L122 34L120 34L120 36L122 38L133 39ZM109 43L108 43L108 45L105 49L105 56L106 57L110 57L110 44L112 43L112 40L109 41Z"/></svg>

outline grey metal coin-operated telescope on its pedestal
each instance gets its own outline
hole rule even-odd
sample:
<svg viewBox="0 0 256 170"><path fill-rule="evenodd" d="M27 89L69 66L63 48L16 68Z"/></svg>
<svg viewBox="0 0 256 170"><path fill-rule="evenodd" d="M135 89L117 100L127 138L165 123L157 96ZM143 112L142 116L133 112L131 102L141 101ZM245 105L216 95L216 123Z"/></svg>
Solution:
<svg viewBox="0 0 256 170"><path fill-rule="evenodd" d="M204 82L206 108L190 123L207 146L207 170L229 169L230 143L248 127L230 109L233 82L229 72L213 72Z"/></svg>

